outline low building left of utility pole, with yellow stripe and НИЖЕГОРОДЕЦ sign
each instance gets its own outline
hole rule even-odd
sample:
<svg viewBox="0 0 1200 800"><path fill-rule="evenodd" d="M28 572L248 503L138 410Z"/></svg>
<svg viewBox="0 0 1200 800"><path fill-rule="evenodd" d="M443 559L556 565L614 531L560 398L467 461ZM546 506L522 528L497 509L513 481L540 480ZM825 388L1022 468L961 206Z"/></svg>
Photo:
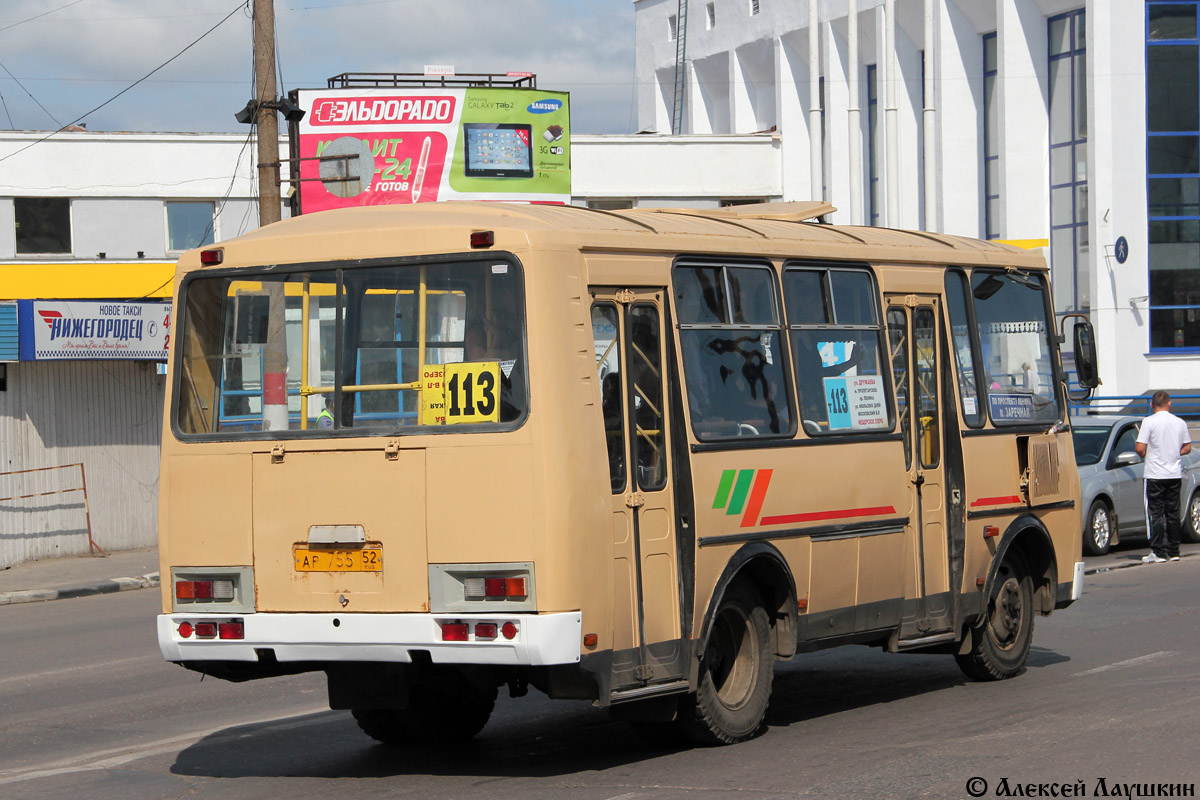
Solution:
<svg viewBox="0 0 1200 800"><path fill-rule="evenodd" d="M155 542L174 259L258 224L245 134L46 137L0 136L0 569Z"/></svg>

